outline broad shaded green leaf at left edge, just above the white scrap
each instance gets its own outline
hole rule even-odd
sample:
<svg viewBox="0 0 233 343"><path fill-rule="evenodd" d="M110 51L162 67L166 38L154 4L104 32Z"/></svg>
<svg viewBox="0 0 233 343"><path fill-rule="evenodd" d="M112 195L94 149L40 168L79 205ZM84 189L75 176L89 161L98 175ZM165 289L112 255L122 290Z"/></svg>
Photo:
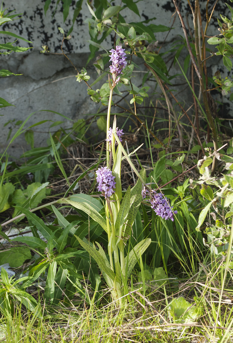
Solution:
<svg viewBox="0 0 233 343"><path fill-rule="evenodd" d="M9 263L10 267L18 268L29 259L31 252L27 247L11 247L9 250L0 251L0 265Z"/></svg>

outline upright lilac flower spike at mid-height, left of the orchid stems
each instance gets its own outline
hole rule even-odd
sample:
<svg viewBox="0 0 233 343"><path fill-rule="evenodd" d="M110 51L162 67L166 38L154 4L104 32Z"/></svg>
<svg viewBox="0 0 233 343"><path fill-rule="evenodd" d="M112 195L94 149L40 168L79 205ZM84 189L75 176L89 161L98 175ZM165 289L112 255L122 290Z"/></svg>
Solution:
<svg viewBox="0 0 233 343"><path fill-rule="evenodd" d="M114 182L115 176L112 175L111 170L108 167L100 167L96 170L96 181L98 182L98 191L101 192L105 198L111 197L115 193L113 188L115 187L116 182Z"/></svg>

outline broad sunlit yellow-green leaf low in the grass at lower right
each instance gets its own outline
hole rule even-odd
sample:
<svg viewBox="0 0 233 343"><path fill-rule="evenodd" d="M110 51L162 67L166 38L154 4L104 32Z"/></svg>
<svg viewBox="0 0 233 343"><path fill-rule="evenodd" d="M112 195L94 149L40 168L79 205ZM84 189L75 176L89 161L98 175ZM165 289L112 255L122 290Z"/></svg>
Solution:
<svg viewBox="0 0 233 343"><path fill-rule="evenodd" d="M183 297L173 299L169 306L175 323L190 323L197 318L197 309Z"/></svg>

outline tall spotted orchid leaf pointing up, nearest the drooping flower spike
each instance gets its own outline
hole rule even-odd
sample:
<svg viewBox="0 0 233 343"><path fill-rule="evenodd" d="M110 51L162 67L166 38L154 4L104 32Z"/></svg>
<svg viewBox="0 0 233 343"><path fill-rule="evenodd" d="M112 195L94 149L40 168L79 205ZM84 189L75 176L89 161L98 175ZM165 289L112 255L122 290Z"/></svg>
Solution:
<svg viewBox="0 0 233 343"><path fill-rule="evenodd" d="M146 183L146 170L145 168L142 168L140 171L140 176L144 180L144 183ZM129 205L129 212L126 219L126 227L125 232L123 236L127 238L131 231L131 226L136 218L138 208L140 206L140 203L142 201L141 197L141 188L142 184L141 181L138 179L136 185L131 189L131 198L130 198L130 205Z"/></svg>

